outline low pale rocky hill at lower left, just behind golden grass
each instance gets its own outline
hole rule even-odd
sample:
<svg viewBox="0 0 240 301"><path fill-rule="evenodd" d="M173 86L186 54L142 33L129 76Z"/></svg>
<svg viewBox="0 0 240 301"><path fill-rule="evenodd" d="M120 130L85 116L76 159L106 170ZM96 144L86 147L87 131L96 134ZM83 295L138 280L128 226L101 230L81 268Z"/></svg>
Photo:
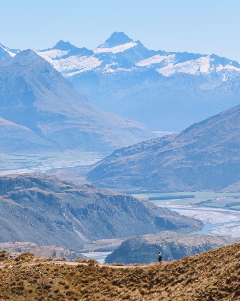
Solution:
<svg viewBox="0 0 240 301"><path fill-rule="evenodd" d="M81 259L86 260L88 257L72 250L59 246L39 246L31 242L8 242L0 243L0 250L16 253L33 253L38 257L47 258L65 258L66 260Z"/></svg>

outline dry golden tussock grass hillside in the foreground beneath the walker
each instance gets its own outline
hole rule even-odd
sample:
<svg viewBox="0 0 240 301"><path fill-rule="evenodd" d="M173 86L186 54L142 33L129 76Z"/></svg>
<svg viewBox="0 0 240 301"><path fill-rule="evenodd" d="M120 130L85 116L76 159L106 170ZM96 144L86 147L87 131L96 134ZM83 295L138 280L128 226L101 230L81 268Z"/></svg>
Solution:
<svg viewBox="0 0 240 301"><path fill-rule="evenodd" d="M237 301L240 243L148 267L7 265L0 269L0 300Z"/></svg>

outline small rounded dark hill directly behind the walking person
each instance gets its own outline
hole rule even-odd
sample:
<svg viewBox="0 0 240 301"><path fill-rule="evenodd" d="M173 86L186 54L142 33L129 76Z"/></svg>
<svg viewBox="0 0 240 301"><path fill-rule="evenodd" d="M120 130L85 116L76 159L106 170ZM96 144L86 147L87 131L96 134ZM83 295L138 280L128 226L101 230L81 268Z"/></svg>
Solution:
<svg viewBox="0 0 240 301"><path fill-rule="evenodd" d="M158 252L161 252L163 261L168 261L223 247L239 240L240 238L233 238L229 235L213 236L174 232L138 235L125 240L106 257L105 262L146 264L156 262Z"/></svg>

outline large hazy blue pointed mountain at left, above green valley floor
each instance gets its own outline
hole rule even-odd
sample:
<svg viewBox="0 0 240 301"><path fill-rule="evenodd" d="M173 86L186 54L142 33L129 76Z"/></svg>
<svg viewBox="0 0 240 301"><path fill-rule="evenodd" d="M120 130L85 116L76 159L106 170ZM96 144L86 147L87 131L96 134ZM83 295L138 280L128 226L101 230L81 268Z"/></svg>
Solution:
<svg viewBox="0 0 240 301"><path fill-rule="evenodd" d="M32 50L0 61L0 116L15 123L19 135L19 147L8 139L1 152L10 151L10 144L11 151L25 151L31 143L38 144L39 151L109 151L153 137L143 124L94 107ZM16 135L11 125L2 129L9 137ZM27 131L33 141L26 145L31 138Z"/></svg>

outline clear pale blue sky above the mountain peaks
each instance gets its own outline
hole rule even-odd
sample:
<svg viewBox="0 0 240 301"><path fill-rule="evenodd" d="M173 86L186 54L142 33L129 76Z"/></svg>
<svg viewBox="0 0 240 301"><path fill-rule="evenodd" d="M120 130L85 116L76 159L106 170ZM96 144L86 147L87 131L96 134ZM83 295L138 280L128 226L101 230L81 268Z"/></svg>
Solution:
<svg viewBox="0 0 240 301"><path fill-rule="evenodd" d="M240 0L1 1L0 43L46 49L59 40L95 49L115 31L154 50L240 62Z"/></svg>

